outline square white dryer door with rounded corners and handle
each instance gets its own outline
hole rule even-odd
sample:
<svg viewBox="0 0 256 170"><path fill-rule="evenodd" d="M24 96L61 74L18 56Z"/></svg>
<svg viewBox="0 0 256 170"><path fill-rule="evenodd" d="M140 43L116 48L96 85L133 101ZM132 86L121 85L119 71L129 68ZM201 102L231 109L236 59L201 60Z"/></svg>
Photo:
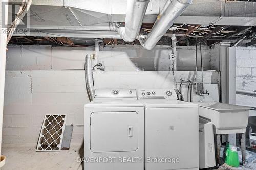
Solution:
<svg viewBox="0 0 256 170"><path fill-rule="evenodd" d="M137 112L91 114L91 151L120 152L138 149Z"/></svg>

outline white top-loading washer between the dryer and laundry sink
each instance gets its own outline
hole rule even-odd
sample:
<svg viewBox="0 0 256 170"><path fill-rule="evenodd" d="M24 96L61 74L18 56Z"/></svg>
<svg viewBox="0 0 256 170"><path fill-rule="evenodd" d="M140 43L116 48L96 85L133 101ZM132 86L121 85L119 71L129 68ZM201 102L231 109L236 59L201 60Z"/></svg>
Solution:
<svg viewBox="0 0 256 170"><path fill-rule="evenodd" d="M139 90L138 98L145 107L145 169L198 169L198 104L177 100L173 89Z"/></svg>

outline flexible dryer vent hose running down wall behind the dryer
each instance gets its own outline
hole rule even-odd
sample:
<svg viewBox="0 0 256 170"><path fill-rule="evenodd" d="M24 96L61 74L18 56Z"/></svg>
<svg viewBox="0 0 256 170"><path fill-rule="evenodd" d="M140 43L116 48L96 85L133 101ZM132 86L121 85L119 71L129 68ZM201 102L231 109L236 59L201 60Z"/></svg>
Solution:
<svg viewBox="0 0 256 170"><path fill-rule="evenodd" d="M86 62L84 63L84 70L86 75L86 89L89 95L90 101L94 100L93 94L93 83L92 83L92 66L91 66L91 55L86 55Z"/></svg>

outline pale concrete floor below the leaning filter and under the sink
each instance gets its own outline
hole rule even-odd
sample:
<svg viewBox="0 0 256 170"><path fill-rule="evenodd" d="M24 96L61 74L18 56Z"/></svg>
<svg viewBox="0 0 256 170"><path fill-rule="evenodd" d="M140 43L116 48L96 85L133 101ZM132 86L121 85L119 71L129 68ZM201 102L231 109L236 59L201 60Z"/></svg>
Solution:
<svg viewBox="0 0 256 170"><path fill-rule="evenodd" d="M223 148L222 148L223 150ZM2 148L6 164L1 170L82 170L81 163L77 162L83 149L78 145L72 145L70 150L61 152L35 152L35 147L18 147L17 145L5 145ZM241 161L241 153L240 161ZM79 158L78 158L79 157ZM246 165L232 168L226 164L219 170L230 169L256 169L256 151L246 151Z"/></svg>

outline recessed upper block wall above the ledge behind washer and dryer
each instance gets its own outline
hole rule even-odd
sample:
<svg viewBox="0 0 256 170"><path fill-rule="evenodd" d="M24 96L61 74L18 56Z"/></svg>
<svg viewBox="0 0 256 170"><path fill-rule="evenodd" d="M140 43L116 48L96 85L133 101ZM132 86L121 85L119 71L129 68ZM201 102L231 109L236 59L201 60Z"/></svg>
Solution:
<svg viewBox="0 0 256 170"><path fill-rule="evenodd" d="M195 47L180 46L177 49L177 69L179 71L195 70ZM210 70L210 51L208 47L202 47L204 70ZM168 71L171 63L169 57L172 49L169 46L157 46L153 50L145 50L141 46L118 45L101 47L99 62L103 62L105 71L136 71L137 68L144 71ZM200 51L198 47L198 70L201 70Z"/></svg>

